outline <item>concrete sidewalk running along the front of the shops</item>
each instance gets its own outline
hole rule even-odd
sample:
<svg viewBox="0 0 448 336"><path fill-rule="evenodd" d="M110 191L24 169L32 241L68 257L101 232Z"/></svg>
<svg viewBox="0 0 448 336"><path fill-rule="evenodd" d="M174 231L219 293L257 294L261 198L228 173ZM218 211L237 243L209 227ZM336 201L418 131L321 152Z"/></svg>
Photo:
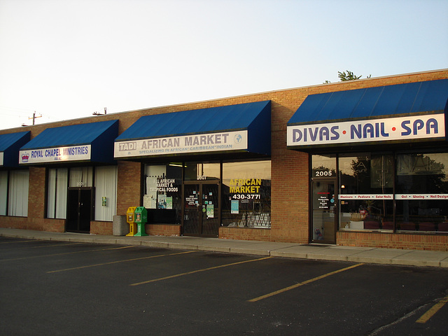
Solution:
<svg viewBox="0 0 448 336"><path fill-rule="evenodd" d="M398 250L336 245L304 245L269 241L245 241L202 237L126 237L85 235L0 228L1 237L20 239L76 241L96 244L141 245L159 248L215 251L312 260L368 262L388 265L448 267L448 252Z"/></svg>

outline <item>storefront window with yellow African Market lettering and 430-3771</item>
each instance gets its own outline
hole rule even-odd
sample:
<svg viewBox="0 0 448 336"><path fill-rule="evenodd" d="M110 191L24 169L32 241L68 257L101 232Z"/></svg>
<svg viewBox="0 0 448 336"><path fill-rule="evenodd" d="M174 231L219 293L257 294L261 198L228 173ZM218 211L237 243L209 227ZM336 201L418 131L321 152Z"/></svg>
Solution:
<svg viewBox="0 0 448 336"><path fill-rule="evenodd" d="M271 161L223 162L222 225L271 227Z"/></svg>

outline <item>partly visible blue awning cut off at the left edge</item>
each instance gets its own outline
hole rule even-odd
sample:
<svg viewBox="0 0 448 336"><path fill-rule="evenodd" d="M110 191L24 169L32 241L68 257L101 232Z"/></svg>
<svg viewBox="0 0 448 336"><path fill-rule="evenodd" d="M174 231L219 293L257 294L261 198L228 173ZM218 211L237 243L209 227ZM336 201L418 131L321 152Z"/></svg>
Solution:
<svg viewBox="0 0 448 336"><path fill-rule="evenodd" d="M0 135L0 167L18 167L20 147L29 141L31 132Z"/></svg>

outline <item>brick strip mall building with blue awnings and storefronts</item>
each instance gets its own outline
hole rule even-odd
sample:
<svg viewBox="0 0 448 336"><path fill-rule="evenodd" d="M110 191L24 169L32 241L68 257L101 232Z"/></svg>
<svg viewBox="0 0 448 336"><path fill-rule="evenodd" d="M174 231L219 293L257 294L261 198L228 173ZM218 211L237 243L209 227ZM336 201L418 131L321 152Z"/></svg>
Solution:
<svg viewBox="0 0 448 336"><path fill-rule="evenodd" d="M0 131L0 227L448 250L448 69Z"/></svg>

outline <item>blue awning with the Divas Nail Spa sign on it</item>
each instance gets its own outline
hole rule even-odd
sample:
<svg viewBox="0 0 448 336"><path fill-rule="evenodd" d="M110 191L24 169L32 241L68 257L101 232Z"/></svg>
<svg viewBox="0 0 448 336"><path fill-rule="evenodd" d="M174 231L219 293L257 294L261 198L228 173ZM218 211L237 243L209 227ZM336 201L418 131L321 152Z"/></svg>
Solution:
<svg viewBox="0 0 448 336"><path fill-rule="evenodd" d="M311 94L287 125L288 148L444 140L448 79Z"/></svg>

